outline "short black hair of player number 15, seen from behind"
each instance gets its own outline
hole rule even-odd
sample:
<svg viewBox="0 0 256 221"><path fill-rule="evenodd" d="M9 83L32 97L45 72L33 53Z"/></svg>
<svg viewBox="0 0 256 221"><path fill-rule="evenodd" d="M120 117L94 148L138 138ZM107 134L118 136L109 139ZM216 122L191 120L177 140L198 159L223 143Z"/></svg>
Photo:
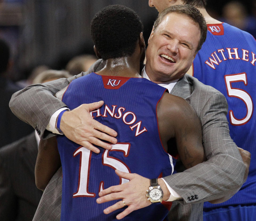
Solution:
<svg viewBox="0 0 256 221"><path fill-rule="evenodd" d="M122 5L110 5L97 12L91 21L91 37L103 60L130 57L143 24L138 14Z"/></svg>

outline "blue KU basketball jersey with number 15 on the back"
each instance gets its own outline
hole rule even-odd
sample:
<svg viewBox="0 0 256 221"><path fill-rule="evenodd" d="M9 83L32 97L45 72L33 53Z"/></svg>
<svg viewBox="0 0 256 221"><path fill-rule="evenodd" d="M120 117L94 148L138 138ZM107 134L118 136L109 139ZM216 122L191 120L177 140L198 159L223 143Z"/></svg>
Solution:
<svg viewBox="0 0 256 221"><path fill-rule="evenodd" d="M115 169L147 178L173 173L176 159L163 149L156 115L157 103L165 90L144 78L96 73L70 83L62 101L74 109L83 103L103 100L104 105L91 111L91 115L118 132L118 143L111 150L98 147L100 153L95 154L64 135L58 136L63 169L61 220L116 220L126 207L108 215L103 210L121 199L96 203L99 191L129 181L119 178ZM169 209L170 203L152 204L123 220L164 220Z"/></svg>

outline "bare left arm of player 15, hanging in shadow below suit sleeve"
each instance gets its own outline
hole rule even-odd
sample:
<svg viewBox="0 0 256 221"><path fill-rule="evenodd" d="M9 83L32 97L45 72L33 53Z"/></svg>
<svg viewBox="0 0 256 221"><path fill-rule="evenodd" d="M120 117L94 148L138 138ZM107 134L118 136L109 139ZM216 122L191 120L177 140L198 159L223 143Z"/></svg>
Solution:
<svg viewBox="0 0 256 221"><path fill-rule="evenodd" d="M40 140L37 161L35 164L35 184L44 190L51 177L61 166L56 136Z"/></svg>

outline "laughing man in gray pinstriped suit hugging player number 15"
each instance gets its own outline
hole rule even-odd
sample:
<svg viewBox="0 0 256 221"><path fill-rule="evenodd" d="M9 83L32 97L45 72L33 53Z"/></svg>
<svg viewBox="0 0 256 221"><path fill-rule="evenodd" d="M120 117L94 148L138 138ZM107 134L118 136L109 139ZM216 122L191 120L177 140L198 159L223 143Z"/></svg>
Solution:
<svg viewBox="0 0 256 221"><path fill-rule="evenodd" d="M173 13L175 13L176 18L179 18L178 20L169 16ZM234 194L241 187L245 174L245 165L242 162L237 146L233 143L228 133L229 130L226 120L227 103L225 97L219 91L210 86L203 85L195 78L185 74L202 44L201 42L198 43L198 47L191 47L189 39L191 37L193 38L193 36L189 27L186 27L186 31L184 32L179 31L183 23L186 25L186 18L186 15L177 14L177 12L168 12L158 20L150 35L149 46L147 48L147 62L145 72L142 75L143 77L148 76L150 80L156 83L165 84L167 87L174 85L170 90L171 94L186 99L199 116L203 131L203 145L208 160L182 173L176 173L164 179L171 187L170 192L172 193L173 200L179 197L182 198L181 201L175 201L173 203L171 218L173 220L202 220L202 206L204 201L219 199L231 193ZM163 26L163 24L167 26ZM101 68L101 61L99 60L89 70L89 73L92 71L97 72ZM76 77L83 76L84 74L86 73L81 73ZM55 99L53 94L67 86L74 78L69 78L66 81L63 79L63 81L53 81L50 84L27 87L13 95L10 107L20 118L23 118L23 120L37 128L39 134L42 131L41 137L49 137L51 133L46 130L46 127L51 116L56 110L65 107L65 104ZM40 94L40 96L49 99L49 102L44 99L45 102L40 103L39 99L34 98L33 102L29 102L33 111L30 112L30 108L27 108L26 105L23 105L18 111L17 105L25 104L25 100L29 101L32 98L31 94ZM37 100L37 103L34 102L35 100ZM52 107L53 104L55 108ZM35 112L37 106L40 108ZM73 141L79 144L81 143L81 145L84 144L83 146L88 148L91 148L88 145L88 140L99 146L109 148L108 145L98 143L99 141L97 139L91 139L90 137L96 134L96 137L115 143L116 140L108 135L102 136L102 134L95 131L89 131L88 134L88 130L84 125L81 125L81 127L82 131L87 132L86 138L79 137L82 134L81 132L76 133L76 130L70 131L70 127L77 126L75 125L75 116L81 116L81 113L85 112L84 106L72 111L66 111L61 118L60 129L67 137L73 138ZM95 108L96 105L94 104ZM30 113L28 114L27 111ZM95 123L93 120L87 118L85 114L82 114L82 118L87 122L89 120L90 128L99 128L99 125L94 127ZM103 132L111 135L114 134L113 131L106 127L103 127ZM97 148L92 150L97 152ZM128 185L119 186L118 188L121 189L118 190L118 194L115 194L118 199L123 199L128 205L128 208L125 210L126 213L146 206L148 203L145 197L146 189L141 190L138 188L138 191L141 191L139 194L131 194L127 190L131 188L133 183L136 183L138 186L147 187L149 184L141 184L145 180L137 174L127 175L119 173L119 175L129 175L129 179L131 180L127 183ZM101 196L107 193L109 193L109 189L104 190ZM138 197L139 195L141 197ZM48 199L45 199L45 201L47 202ZM101 199L109 200L108 196ZM191 202L197 203L192 204ZM117 206L121 205L112 207L112 210L117 209ZM178 212L176 211L177 209Z"/></svg>

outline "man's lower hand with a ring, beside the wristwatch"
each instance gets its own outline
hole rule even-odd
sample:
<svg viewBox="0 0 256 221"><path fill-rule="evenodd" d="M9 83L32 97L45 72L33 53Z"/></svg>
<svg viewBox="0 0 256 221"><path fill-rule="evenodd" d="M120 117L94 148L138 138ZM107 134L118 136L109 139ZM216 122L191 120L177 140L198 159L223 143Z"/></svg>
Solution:
<svg viewBox="0 0 256 221"><path fill-rule="evenodd" d="M99 193L100 198L97 199L97 203L121 199L114 205L107 207L103 211L105 214L109 214L110 212L123 208L125 206L123 201L128 207L116 216L117 219L122 219L134 210L151 205L151 202L147 200L146 197L146 190L150 185L149 179L136 173L125 173L119 170L115 170L115 173L119 177L130 181L122 185L111 186Z"/></svg>

